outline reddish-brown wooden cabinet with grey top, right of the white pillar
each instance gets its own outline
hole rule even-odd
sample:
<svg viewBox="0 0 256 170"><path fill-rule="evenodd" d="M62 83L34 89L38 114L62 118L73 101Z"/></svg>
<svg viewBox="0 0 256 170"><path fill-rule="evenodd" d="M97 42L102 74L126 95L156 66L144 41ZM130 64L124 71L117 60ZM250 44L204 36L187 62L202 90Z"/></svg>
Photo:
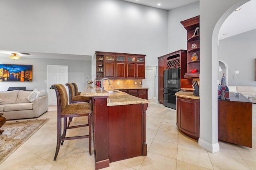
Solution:
<svg viewBox="0 0 256 170"><path fill-rule="evenodd" d="M252 147L252 102L229 93L230 100L218 99L218 139Z"/></svg>

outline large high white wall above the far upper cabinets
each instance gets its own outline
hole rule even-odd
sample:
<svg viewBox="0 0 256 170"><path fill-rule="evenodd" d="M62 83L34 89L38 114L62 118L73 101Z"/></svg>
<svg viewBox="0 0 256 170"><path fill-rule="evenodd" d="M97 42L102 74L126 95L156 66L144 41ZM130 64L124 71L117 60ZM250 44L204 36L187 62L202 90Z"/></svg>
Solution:
<svg viewBox="0 0 256 170"><path fill-rule="evenodd" d="M0 50L94 55L167 51L168 12L123 0L1 0Z"/></svg>

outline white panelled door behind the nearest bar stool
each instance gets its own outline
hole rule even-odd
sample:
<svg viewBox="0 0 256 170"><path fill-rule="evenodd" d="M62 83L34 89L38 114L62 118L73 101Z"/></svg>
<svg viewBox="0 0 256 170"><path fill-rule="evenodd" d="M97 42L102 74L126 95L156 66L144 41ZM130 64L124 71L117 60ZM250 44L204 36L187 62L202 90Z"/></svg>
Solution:
<svg viewBox="0 0 256 170"><path fill-rule="evenodd" d="M47 93L49 98L49 105L56 105L56 92L50 87L53 84L63 84L68 92L68 66L47 65Z"/></svg>

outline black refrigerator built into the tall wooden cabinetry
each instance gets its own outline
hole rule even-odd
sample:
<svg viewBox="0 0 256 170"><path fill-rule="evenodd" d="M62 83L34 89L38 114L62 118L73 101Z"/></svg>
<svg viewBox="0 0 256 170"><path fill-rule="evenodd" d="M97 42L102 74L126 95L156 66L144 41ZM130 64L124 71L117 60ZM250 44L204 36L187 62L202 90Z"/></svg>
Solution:
<svg viewBox="0 0 256 170"><path fill-rule="evenodd" d="M176 109L175 93L180 91L180 68L164 70L164 106Z"/></svg>

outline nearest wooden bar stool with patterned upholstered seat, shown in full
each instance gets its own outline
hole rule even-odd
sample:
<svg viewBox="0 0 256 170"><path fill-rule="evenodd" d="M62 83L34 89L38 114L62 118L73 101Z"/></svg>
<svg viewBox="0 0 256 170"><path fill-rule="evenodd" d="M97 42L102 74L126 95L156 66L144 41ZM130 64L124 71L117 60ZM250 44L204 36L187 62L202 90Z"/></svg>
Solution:
<svg viewBox="0 0 256 170"><path fill-rule="evenodd" d="M90 103L77 103L77 104L68 104L68 93L66 88L62 84L54 84L51 86L55 90L57 96L57 107L58 107L58 128L57 128L57 146L54 156L56 160L58 152L60 150L60 145L63 145L65 140L71 139L84 139L89 138L89 153L92 154L92 104ZM88 124L76 125L76 126L67 126L67 117L80 117L87 116ZM62 118L63 118L63 133L62 133ZM66 137L67 129L80 128L80 127L89 127L89 134L83 136L73 136Z"/></svg>

